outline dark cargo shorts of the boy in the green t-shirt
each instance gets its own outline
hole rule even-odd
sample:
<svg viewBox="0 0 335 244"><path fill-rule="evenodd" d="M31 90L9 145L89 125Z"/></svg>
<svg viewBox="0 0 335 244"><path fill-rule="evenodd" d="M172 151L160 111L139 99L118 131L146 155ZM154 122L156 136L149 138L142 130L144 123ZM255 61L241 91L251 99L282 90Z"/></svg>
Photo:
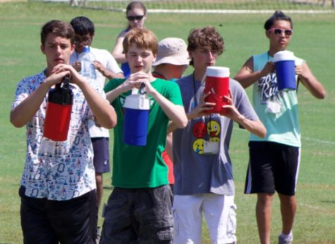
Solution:
<svg viewBox="0 0 335 244"><path fill-rule="evenodd" d="M169 185L114 188L104 212L100 243L172 243Z"/></svg>

